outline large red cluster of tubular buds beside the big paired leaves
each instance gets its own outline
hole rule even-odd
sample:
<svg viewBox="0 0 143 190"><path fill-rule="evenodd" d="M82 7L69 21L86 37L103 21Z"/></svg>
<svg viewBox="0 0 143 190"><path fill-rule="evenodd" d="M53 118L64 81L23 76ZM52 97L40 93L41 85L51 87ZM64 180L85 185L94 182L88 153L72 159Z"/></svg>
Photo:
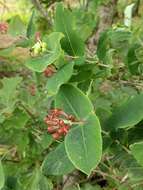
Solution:
<svg viewBox="0 0 143 190"><path fill-rule="evenodd" d="M66 114L61 109L53 109L46 116L44 121L48 126L48 132L52 134L55 140L59 140L68 133L71 127L70 123L75 121L75 117Z"/></svg>

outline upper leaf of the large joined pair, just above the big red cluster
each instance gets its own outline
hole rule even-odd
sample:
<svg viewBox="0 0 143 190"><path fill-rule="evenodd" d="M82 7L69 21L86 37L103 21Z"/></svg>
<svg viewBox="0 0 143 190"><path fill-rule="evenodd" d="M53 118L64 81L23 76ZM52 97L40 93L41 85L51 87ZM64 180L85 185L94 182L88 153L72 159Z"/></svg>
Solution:
<svg viewBox="0 0 143 190"><path fill-rule="evenodd" d="M87 118L90 113L94 113L93 105L88 97L71 84L61 86L55 105L66 113L74 115L77 119Z"/></svg>

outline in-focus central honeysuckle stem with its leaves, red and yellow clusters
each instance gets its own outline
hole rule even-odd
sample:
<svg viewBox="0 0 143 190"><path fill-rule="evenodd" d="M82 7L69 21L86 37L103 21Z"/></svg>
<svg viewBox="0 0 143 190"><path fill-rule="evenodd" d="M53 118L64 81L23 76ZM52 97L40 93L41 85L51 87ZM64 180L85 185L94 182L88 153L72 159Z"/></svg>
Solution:
<svg viewBox="0 0 143 190"><path fill-rule="evenodd" d="M74 67L84 64L85 47L63 4L56 6L54 32L43 39L38 34L31 55L26 66L44 73L47 94L53 97L53 108L44 118L47 132L59 142L46 156L42 171L64 175L78 169L90 175L102 155L101 127L88 96L70 82Z"/></svg>

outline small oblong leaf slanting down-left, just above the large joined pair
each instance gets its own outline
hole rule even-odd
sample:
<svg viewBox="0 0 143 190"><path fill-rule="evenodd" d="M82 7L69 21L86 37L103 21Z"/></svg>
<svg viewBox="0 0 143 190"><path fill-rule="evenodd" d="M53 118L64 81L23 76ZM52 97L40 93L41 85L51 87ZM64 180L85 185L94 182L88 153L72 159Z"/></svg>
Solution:
<svg viewBox="0 0 143 190"><path fill-rule="evenodd" d="M56 94L60 86L70 79L73 73L73 66L74 63L67 63L47 80L46 88L49 94Z"/></svg>

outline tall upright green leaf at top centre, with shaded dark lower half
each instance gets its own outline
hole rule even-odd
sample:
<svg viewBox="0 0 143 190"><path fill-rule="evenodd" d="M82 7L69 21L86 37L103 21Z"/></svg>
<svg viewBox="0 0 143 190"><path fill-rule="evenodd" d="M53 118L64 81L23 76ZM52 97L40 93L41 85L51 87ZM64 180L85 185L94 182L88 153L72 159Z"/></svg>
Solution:
<svg viewBox="0 0 143 190"><path fill-rule="evenodd" d="M73 29L74 19L72 13L64 9L62 3L58 3L55 16L55 31L62 32L65 38L62 39L62 48L72 56L84 54L84 43Z"/></svg>

